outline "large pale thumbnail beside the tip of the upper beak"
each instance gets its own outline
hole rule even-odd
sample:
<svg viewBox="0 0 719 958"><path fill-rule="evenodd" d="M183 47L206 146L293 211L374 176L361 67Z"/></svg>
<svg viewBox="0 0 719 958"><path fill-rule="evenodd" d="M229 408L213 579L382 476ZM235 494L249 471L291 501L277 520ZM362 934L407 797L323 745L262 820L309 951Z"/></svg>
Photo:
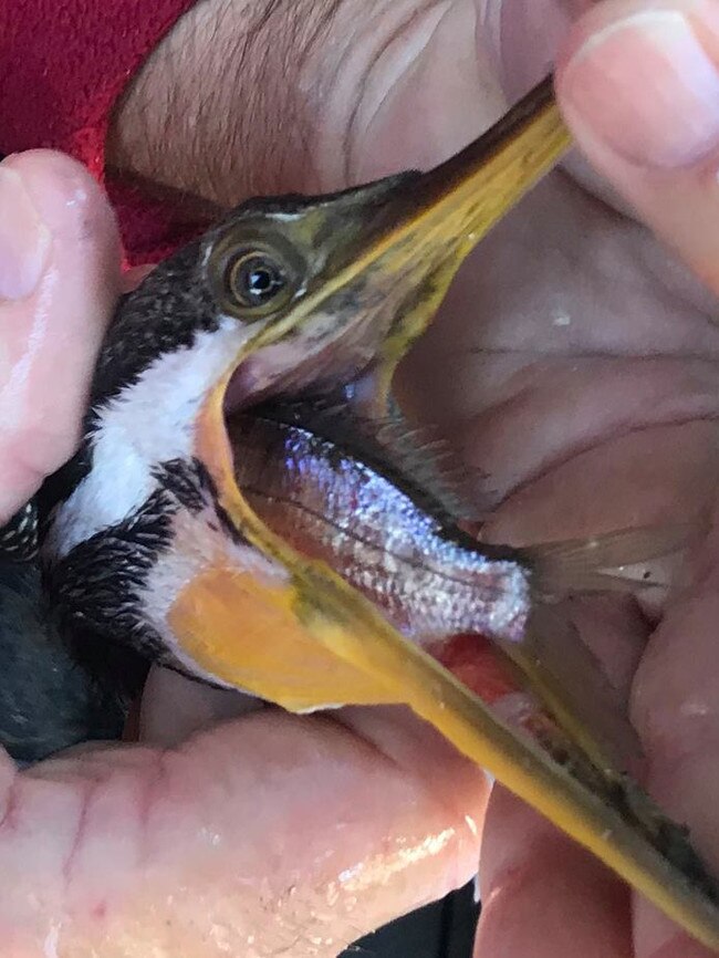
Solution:
<svg viewBox="0 0 719 958"><path fill-rule="evenodd" d="M719 147L719 72L678 11L638 12L594 34L561 86L592 135L637 165L687 166Z"/></svg>

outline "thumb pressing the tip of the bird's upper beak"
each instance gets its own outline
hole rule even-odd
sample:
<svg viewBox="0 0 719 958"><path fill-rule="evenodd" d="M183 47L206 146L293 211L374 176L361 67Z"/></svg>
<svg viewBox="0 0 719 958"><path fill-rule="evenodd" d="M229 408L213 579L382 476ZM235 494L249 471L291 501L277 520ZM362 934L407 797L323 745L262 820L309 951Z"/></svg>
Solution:
<svg viewBox="0 0 719 958"><path fill-rule="evenodd" d="M719 292L719 4L597 4L558 93L593 166Z"/></svg>

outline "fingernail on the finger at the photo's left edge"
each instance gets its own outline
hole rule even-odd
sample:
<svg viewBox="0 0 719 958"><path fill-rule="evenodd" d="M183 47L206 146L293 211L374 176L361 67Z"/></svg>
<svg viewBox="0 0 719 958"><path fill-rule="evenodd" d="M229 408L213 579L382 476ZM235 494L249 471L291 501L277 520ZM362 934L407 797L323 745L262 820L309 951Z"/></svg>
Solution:
<svg viewBox="0 0 719 958"><path fill-rule="evenodd" d="M20 174L0 166L0 299L20 300L35 289L50 249L43 223Z"/></svg>

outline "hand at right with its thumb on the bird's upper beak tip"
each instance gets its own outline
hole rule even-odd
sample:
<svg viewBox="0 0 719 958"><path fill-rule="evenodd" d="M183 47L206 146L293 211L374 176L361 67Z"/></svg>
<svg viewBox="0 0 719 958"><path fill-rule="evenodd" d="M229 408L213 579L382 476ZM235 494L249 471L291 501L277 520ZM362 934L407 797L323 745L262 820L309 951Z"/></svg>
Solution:
<svg viewBox="0 0 719 958"><path fill-rule="evenodd" d="M607 629L602 642L615 676L627 683L633 677L632 714L647 753L647 785L677 821L687 822L717 873L719 4L585 6L588 12L560 53L559 95L585 155L622 199L579 165L569 169L588 196L561 176L548 184L554 210L549 242L541 222L515 233L523 249L536 244L540 260L531 267L523 306L514 300L519 320L513 331L511 321L506 327L501 319L492 321L503 348L527 352L513 357L513 369L504 366L509 388L506 382L484 392L480 415L465 420L462 441L473 461L487 468L493 459L509 475L517 459L507 447L502 452L502 430L531 436L531 417L541 417L538 440L523 447L527 458L498 514L493 534L499 538L559 538L627 521L708 517L707 540L686 587L660 627L648 634L644 654L636 644L632 648L642 629L633 629L631 619L617 623L614 635ZM531 52L525 48L523 63L518 52L508 50L506 69L521 84L523 71L531 74L532 56L539 65L546 51L541 44ZM591 197L608 205L593 204ZM535 201L542 204L541 197ZM705 285L623 216L629 208ZM530 223L531 212L524 216ZM508 225L508 239L511 230ZM494 242L494 254L507 262L502 239ZM491 272L491 262L486 267ZM552 299L556 283L560 301ZM512 305L504 309L509 315ZM549 323L538 322L538 310ZM550 330L553 316L559 329ZM563 326L566 319L571 323ZM496 334L492 342L500 345ZM497 358L507 362L508 356ZM488 373L496 368L491 357L484 362ZM550 437L549 444L542 436ZM489 898L478 954L707 954L500 790L490 802L484 834Z"/></svg>

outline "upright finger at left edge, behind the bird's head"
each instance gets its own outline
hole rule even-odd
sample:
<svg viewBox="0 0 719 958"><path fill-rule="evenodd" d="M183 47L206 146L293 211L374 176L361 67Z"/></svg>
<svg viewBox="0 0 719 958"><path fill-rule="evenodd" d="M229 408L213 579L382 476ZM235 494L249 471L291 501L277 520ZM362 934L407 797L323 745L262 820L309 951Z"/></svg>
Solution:
<svg viewBox="0 0 719 958"><path fill-rule="evenodd" d="M72 455L119 283L114 217L61 154L0 164L0 518Z"/></svg>

